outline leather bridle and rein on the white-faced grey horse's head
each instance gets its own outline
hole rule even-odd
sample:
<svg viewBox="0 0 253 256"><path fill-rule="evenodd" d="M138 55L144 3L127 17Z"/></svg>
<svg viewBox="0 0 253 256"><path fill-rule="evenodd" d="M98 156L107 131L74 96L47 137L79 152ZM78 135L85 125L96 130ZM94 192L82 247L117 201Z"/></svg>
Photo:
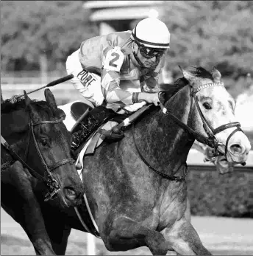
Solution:
<svg viewBox="0 0 253 256"><path fill-rule="evenodd" d="M205 89L207 87L213 87L213 86L224 86L224 83L206 83L202 86L199 86L197 89L193 89L192 86L190 86L190 113L192 112L193 109L193 100L196 104L196 108L199 112L199 116L202 119L203 122L203 128L204 131L207 134L207 137L203 136L202 134L198 134L196 133L196 131L193 131L192 128L190 128L188 125L185 125L185 123L183 123L182 121L180 121L177 117L174 117L173 114L171 114L167 108L164 107L163 103L160 103L160 106L162 108L162 111L164 114L172 117L173 120L175 120L182 128L185 128L185 130L187 130L195 139L197 139L199 142L204 143L208 146L210 146L210 148L213 148L213 156L227 156L227 146L229 143L229 139L237 132L237 131L242 131L240 128L240 122L229 122L225 125L221 125L218 128L213 128L212 125L210 125L210 122L207 121L207 119L204 117L204 114L202 113L202 110L199 106L198 100L196 99L196 94L198 91ZM162 91L160 91L162 92ZM188 115L188 120L190 117L190 113ZM228 138L227 138L227 142L225 145L225 153L221 152L218 149L218 146L224 145L221 142L218 142L218 139L215 137L216 134L220 133L221 131L224 131L228 128L232 128L232 127L236 127L236 129L234 131L232 131L231 134L229 134ZM243 131L242 131L243 132Z"/></svg>

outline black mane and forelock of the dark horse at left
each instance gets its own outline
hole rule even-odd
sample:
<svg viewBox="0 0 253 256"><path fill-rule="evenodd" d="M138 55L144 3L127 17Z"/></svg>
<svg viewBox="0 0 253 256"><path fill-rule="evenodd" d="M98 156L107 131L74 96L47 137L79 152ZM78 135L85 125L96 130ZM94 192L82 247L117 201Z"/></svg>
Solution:
<svg viewBox="0 0 253 256"><path fill-rule="evenodd" d="M46 102L43 100L31 100L31 103L36 103L36 105L40 105L41 107L45 108ZM20 97L19 95L14 95L10 99L4 100L1 103L1 114L8 114L13 111L17 111L19 109L24 108L24 97Z"/></svg>

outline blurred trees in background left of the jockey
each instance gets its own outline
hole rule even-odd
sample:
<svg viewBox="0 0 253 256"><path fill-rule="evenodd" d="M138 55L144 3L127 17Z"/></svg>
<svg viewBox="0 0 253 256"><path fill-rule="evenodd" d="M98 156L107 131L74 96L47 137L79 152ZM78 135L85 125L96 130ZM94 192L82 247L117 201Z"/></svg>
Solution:
<svg viewBox="0 0 253 256"><path fill-rule="evenodd" d="M1 68L49 70L97 35L82 1L1 1Z"/></svg>

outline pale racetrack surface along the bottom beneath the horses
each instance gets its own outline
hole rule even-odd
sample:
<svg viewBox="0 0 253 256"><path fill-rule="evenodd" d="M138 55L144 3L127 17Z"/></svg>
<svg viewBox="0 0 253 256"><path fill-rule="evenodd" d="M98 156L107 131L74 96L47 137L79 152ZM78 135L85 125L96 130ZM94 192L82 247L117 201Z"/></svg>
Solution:
<svg viewBox="0 0 253 256"><path fill-rule="evenodd" d="M213 255L253 255L253 219L192 217L192 224L204 246ZM87 235L72 229L66 255L87 255ZM127 252L109 252L96 240L96 255L152 255L140 247ZM32 243L19 224L1 209L1 255L35 255ZM168 252L167 255L176 255Z"/></svg>

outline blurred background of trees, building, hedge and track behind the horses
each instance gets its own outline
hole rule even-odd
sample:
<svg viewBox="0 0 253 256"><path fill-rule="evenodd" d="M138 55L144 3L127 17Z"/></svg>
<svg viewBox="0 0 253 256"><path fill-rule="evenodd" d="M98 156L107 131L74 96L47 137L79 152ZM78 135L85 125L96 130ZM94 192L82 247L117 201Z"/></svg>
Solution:
<svg viewBox="0 0 253 256"><path fill-rule="evenodd" d="M132 30L140 19L155 16L171 32L171 49L160 81L170 83L181 77L179 65L202 66L207 70L216 66L227 90L237 100L235 115L253 145L253 1L1 1L0 4L4 99L67 75L65 60L82 41L109 32ZM82 100L68 82L51 87L51 91L58 105ZM44 100L43 90L30 97ZM213 164L204 163L203 158L201 153L190 151L188 194L193 226L214 253L252 255L253 246L249 242L253 241L252 152L246 167L236 166L233 173L224 176L215 172ZM85 233L74 230L70 240L67 254L87 254ZM96 244L91 252L110 254L101 241L96 240ZM149 250L129 253L150 255ZM20 226L1 210L1 255L21 254L34 254L31 243Z"/></svg>

